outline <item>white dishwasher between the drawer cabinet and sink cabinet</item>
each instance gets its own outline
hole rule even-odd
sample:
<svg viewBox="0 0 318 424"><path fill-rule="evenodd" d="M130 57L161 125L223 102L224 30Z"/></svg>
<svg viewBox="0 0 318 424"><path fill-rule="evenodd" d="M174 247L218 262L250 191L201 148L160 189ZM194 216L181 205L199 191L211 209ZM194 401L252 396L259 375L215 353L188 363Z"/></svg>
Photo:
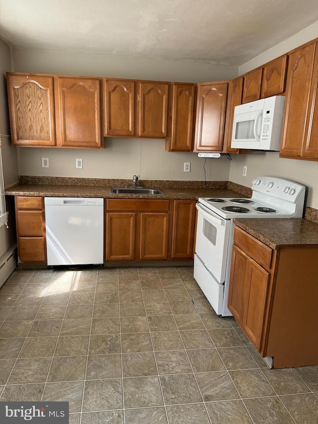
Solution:
<svg viewBox="0 0 318 424"><path fill-rule="evenodd" d="M45 197L48 265L104 262L104 199Z"/></svg>

